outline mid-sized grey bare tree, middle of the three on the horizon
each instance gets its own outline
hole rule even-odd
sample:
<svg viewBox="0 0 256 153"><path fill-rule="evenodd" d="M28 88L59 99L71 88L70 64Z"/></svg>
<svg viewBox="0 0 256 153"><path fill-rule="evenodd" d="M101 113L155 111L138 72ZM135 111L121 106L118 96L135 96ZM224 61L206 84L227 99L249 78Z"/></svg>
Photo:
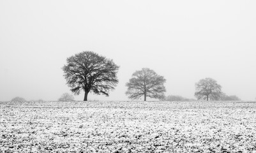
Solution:
<svg viewBox="0 0 256 153"><path fill-rule="evenodd" d="M126 95L130 99L139 99L144 96L144 101L146 101L146 97L164 99L166 90L163 84L165 81L165 78L157 75L153 70L142 68L140 71L135 71L132 78L126 83L128 87Z"/></svg>

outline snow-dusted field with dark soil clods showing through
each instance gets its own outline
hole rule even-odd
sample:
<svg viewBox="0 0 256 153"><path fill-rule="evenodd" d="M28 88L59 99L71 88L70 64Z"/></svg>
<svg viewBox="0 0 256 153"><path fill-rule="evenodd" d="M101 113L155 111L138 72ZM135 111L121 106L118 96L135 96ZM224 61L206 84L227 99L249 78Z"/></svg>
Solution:
<svg viewBox="0 0 256 153"><path fill-rule="evenodd" d="M256 103L0 102L0 152L256 152Z"/></svg>

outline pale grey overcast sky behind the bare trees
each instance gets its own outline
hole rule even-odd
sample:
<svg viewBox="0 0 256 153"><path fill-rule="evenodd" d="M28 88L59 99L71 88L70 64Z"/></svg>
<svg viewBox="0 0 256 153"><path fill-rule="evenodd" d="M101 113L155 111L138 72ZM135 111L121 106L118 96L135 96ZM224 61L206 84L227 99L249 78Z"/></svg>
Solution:
<svg viewBox="0 0 256 153"><path fill-rule="evenodd" d="M128 100L125 84L142 68L167 79L166 96L195 98L195 82L211 77L226 94L255 100L255 7L234 0L0 1L0 101L57 100L70 92L66 58L87 50L120 66L116 89L91 100Z"/></svg>

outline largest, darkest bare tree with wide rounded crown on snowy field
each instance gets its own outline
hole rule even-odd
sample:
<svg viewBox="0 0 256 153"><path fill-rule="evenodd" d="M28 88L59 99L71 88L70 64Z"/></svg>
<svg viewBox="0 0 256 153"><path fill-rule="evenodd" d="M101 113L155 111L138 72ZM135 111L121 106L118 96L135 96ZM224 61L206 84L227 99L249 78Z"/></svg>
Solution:
<svg viewBox="0 0 256 153"><path fill-rule="evenodd" d="M84 101L91 91L109 96L109 91L118 83L119 66L106 57L86 51L68 57L66 61L63 67L66 82L73 93L84 91Z"/></svg>

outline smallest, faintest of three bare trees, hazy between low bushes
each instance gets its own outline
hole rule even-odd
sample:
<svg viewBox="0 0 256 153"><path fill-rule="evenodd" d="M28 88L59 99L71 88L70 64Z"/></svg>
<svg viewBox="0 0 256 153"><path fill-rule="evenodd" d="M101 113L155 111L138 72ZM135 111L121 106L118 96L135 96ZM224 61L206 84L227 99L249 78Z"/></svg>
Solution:
<svg viewBox="0 0 256 153"><path fill-rule="evenodd" d="M222 98L222 86L213 78L204 78L195 84L195 97L197 99L219 100Z"/></svg>

